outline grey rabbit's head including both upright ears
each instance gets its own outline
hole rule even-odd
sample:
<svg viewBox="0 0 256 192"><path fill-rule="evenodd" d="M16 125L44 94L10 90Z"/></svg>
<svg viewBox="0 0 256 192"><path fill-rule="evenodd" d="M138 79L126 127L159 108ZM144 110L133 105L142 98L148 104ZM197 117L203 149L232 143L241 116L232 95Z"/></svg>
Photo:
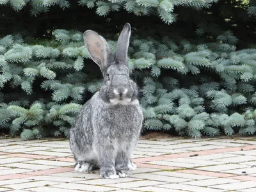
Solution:
<svg viewBox="0 0 256 192"><path fill-rule="evenodd" d="M120 33L114 55L102 36L92 30L84 32L84 44L92 60L99 65L104 77L100 97L109 104L138 102L138 88L129 77L127 62L130 36L131 26L127 23Z"/></svg>

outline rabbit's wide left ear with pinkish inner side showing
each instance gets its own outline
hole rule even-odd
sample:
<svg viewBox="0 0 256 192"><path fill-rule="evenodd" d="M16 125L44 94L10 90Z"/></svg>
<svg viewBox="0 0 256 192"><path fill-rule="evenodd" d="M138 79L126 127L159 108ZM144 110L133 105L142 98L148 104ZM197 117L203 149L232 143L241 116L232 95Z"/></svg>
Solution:
<svg viewBox="0 0 256 192"><path fill-rule="evenodd" d="M92 30L84 32L84 44L86 45L92 60L104 71L114 61L113 53L106 40Z"/></svg>

